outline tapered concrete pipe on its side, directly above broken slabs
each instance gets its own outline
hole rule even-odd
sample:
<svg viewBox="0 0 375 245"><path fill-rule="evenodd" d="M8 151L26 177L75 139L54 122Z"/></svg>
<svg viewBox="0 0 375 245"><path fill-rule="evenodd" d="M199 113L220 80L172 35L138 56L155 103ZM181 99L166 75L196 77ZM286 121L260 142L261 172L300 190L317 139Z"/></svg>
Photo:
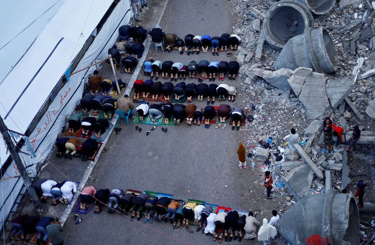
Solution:
<svg viewBox="0 0 375 245"><path fill-rule="evenodd" d="M291 38L285 44L273 65L277 69L292 70L303 66L329 74L335 71L333 63L337 59L335 44L327 30L307 27L303 34Z"/></svg>

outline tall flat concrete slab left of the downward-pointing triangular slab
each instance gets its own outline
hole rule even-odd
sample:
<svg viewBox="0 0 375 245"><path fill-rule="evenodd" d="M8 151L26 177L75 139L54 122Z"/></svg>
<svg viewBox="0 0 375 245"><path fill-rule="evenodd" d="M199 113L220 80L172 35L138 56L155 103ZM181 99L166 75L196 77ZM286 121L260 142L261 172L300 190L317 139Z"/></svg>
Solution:
<svg viewBox="0 0 375 245"><path fill-rule="evenodd" d="M302 92L298 98L306 107L309 120L321 117L326 108L329 107L325 86L324 75L321 73L312 72L306 77Z"/></svg>

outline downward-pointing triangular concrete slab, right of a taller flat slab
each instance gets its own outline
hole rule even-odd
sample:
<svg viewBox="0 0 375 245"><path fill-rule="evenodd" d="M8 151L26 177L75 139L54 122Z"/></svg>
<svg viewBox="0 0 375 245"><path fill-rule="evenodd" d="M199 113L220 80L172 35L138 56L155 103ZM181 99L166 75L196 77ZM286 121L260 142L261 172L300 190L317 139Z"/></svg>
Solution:
<svg viewBox="0 0 375 245"><path fill-rule="evenodd" d="M335 110L339 106L353 87L353 82L348 78L331 79L327 81L326 93L330 100L332 110Z"/></svg>

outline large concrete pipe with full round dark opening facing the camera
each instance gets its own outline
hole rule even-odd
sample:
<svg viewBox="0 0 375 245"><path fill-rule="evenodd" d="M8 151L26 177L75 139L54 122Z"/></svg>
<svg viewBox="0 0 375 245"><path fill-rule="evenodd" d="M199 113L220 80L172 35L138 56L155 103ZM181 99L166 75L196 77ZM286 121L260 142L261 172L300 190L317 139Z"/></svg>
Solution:
<svg viewBox="0 0 375 245"><path fill-rule="evenodd" d="M282 50L289 39L302 34L306 27L314 27L314 18L306 5L296 0L276 2L263 21L266 41L277 50Z"/></svg>

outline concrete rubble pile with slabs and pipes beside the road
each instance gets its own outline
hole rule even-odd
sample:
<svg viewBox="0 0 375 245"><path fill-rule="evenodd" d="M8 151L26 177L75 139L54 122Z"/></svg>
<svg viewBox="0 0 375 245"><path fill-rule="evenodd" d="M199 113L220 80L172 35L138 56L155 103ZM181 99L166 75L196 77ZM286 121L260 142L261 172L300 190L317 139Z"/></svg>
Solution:
<svg viewBox="0 0 375 245"><path fill-rule="evenodd" d="M252 166L273 170L282 182L274 187L296 200L341 191L351 183L344 146L353 126L362 131L357 144L375 144L375 2L232 2L244 19L233 29L242 38L242 102L254 117L244 130ZM325 151L327 116L344 128L332 152ZM297 144L288 141L291 127ZM268 149L260 142L267 140Z"/></svg>

